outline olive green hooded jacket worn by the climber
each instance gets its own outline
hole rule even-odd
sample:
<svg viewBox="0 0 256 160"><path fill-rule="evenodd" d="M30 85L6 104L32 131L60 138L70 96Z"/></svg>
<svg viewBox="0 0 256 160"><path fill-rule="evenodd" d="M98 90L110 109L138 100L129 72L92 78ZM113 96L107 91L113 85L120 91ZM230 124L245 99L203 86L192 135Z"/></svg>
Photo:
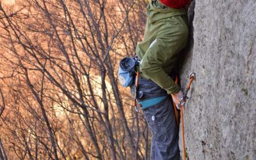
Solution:
<svg viewBox="0 0 256 160"><path fill-rule="evenodd" d="M168 8L157 0L147 6L143 41L136 47L141 77L151 79L170 93L180 88L166 73L173 71L181 49L188 42L187 11Z"/></svg>

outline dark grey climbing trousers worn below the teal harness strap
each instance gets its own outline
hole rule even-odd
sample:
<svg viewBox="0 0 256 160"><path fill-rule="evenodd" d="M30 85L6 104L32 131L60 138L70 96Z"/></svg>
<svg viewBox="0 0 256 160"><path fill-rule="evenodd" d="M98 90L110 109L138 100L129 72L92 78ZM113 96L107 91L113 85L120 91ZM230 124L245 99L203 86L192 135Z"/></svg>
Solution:
<svg viewBox="0 0 256 160"><path fill-rule="evenodd" d="M175 119L173 103L170 95L153 81L139 79L140 99L166 95L163 102L143 110L148 127L152 131L151 160L180 159L179 127ZM134 86L132 86L134 92Z"/></svg>

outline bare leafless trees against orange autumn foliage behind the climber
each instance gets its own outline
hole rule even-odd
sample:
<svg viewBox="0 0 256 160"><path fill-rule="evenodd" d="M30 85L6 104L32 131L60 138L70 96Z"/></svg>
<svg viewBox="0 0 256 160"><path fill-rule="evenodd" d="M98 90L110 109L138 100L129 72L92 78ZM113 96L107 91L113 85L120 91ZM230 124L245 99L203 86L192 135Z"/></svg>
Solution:
<svg viewBox="0 0 256 160"><path fill-rule="evenodd" d="M0 159L147 159L150 132L116 72L147 1L0 2Z"/></svg>

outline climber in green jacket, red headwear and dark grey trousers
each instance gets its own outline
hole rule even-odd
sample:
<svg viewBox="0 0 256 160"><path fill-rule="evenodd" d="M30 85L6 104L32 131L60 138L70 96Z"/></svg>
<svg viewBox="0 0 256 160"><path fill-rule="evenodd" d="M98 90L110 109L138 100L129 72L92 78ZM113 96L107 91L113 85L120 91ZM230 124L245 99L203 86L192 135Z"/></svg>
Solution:
<svg viewBox="0 0 256 160"><path fill-rule="evenodd" d="M188 43L188 4L186 0L151 0L144 38L136 47L140 59L136 98L152 131L152 160L180 159L179 126L172 100L179 108L183 94L173 82L172 72L180 50ZM133 84L132 93L135 88Z"/></svg>

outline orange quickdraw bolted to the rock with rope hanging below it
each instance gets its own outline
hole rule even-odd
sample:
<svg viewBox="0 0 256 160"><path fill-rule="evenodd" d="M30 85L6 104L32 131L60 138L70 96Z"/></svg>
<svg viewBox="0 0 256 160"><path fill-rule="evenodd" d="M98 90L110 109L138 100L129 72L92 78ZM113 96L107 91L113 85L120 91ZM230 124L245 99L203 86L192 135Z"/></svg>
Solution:
<svg viewBox="0 0 256 160"><path fill-rule="evenodd" d="M190 86L192 84L192 82L194 81L194 79L196 78L196 73L195 72L191 72L191 74L189 74L189 84L186 88L186 92L183 95L183 98L180 99L180 118L181 118L181 132L182 132L182 145L183 145L183 156L184 156L184 160L186 160L186 147L185 147L185 133L184 133L184 120L183 120L183 109L184 109L184 104L186 103L187 99L188 99L188 91L190 90Z"/></svg>

